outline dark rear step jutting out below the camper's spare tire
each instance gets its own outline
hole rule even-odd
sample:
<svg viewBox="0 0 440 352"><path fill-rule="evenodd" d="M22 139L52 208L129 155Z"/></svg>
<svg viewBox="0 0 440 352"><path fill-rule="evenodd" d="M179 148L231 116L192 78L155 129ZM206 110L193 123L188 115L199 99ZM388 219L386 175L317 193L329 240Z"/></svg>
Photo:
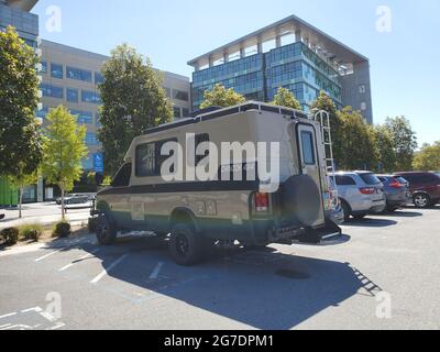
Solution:
<svg viewBox="0 0 440 352"><path fill-rule="evenodd" d="M344 242L342 229L330 219L326 219L326 226L314 229L306 228L301 235L296 239L299 244L326 245L328 243Z"/></svg>

